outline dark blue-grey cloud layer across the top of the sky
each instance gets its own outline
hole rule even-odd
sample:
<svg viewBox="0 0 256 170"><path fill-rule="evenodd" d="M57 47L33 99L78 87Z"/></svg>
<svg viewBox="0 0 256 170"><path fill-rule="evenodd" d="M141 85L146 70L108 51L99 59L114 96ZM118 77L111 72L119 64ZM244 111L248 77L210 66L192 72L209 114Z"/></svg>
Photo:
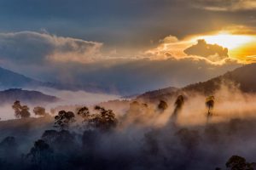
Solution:
<svg viewBox="0 0 256 170"><path fill-rule="evenodd" d="M2 0L0 28L1 31L45 28L62 37L104 42L106 48L119 47L131 52L148 48L152 46L150 40L159 42L170 34L180 39L232 24L255 26L252 23L255 11L205 10L207 6L215 7L226 1L215 2L218 3L213 0L159 0L157 3L155 0L63 0L61 3L58 0Z"/></svg>

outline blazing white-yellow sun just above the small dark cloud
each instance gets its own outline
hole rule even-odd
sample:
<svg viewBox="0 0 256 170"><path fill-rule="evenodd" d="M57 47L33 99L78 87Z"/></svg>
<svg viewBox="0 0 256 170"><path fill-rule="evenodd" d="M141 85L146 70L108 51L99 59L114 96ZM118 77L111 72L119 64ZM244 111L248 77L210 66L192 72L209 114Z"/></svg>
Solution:
<svg viewBox="0 0 256 170"><path fill-rule="evenodd" d="M200 36L196 37L196 39L204 39L207 43L218 44L229 49L239 48L244 44L253 41L253 37L249 35L232 35L227 33Z"/></svg>

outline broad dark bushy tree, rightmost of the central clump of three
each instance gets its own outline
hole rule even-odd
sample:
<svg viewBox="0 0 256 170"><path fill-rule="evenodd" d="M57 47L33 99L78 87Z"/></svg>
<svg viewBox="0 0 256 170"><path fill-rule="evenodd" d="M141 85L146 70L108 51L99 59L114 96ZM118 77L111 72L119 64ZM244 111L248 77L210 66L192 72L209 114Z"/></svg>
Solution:
<svg viewBox="0 0 256 170"><path fill-rule="evenodd" d="M100 113L91 116L89 120L91 126L101 130L109 130L116 127L118 121L112 110L105 110L103 107L98 105L95 106L95 110Z"/></svg>

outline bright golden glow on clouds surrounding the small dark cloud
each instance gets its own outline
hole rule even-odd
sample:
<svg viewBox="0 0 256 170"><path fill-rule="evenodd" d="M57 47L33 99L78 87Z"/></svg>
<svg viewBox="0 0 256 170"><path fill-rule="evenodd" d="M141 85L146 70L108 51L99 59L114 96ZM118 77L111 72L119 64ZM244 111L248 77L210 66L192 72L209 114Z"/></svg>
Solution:
<svg viewBox="0 0 256 170"><path fill-rule="evenodd" d="M224 30L194 35L177 39L168 36L160 40L160 44L153 49L149 49L146 54L154 59L166 59L169 57L199 57L188 56L183 50L197 43L197 40L204 39L207 44L218 44L228 48L229 58L238 59L243 63L256 62L256 32L253 28L246 26L230 26ZM214 56L212 56L214 57Z"/></svg>

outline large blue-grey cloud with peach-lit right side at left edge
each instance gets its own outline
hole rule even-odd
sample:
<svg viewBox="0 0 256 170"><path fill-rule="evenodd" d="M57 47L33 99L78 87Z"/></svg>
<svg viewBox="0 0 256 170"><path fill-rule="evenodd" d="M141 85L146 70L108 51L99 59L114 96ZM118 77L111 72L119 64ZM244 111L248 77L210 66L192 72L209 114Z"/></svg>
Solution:
<svg viewBox="0 0 256 170"><path fill-rule="evenodd" d="M0 33L0 58L26 65L55 61L87 63L101 57L101 47L101 42L34 31Z"/></svg>

